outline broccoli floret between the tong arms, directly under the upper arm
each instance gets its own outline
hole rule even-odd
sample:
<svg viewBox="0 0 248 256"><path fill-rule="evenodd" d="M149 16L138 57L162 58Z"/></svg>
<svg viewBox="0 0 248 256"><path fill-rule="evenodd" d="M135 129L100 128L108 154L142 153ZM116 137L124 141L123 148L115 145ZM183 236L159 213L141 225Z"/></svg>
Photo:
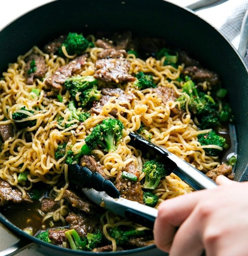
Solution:
<svg viewBox="0 0 248 256"><path fill-rule="evenodd" d="M159 163L156 159L147 161L143 165L142 171L146 174L143 184L145 189L156 189L160 179L167 174L164 164Z"/></svg>

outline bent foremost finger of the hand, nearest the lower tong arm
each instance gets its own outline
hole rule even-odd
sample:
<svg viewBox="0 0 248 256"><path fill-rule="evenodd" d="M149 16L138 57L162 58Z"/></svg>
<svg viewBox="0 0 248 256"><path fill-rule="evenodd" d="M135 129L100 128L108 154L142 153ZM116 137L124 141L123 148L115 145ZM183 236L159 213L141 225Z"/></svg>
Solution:
<svg viewBox="0 0 248 256"><path fill-rule="evenodd" d="M177 227L190 215L204 191L171 198L159 205L154 223L154 239L160 250L169 252Z"/></svg>

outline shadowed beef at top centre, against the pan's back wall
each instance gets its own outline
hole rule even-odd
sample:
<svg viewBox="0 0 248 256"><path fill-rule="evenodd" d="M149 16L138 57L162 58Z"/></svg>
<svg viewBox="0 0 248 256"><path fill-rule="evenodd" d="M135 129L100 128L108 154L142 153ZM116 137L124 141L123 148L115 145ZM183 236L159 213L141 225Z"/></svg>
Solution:
<svg viewBox="0 0 248 256"><path fill-rule="evenodd" d="M95 44L97 47L101 47L103 49L126 49L132 40L132 33L130 31L126 31L124 33L114 33L113 35L101 34L99 36L105 38L98 39Z"/></svg>

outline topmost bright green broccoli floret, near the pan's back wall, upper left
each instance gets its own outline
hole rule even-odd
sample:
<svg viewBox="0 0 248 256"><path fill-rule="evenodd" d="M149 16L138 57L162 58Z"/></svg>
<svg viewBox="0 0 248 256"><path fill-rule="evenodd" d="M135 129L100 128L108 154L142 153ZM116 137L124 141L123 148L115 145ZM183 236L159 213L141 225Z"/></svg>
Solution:
<svg viewBox="0 0 248 256"><path fill-rule="evenodd" d="M75 53L80 54L88 47L92 47L92 44L82 35L78 33L69 33L66 40L64 40L62 46L66 47L66 51L69 55ZM58 49L58 54L64 56L62 48Z"/></svg>

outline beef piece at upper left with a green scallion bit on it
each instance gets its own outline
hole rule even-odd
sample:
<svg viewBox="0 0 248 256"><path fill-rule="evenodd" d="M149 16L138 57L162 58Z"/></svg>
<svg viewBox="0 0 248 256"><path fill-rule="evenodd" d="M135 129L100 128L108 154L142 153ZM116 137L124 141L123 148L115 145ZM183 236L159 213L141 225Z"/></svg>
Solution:
<svg viewBox="0 0 248 256"><path fill-rule="evenodd" d="M28 71L31 69L30 64L33 60L35 61L36 70L29 74ZM34 78L39 78L39 79L43 78L47 71L45 58L37 54L30 54L25 59L25 61L27 62L25 66L25 76L27 78L26 83L27 85L33 85Z"/></svg>

